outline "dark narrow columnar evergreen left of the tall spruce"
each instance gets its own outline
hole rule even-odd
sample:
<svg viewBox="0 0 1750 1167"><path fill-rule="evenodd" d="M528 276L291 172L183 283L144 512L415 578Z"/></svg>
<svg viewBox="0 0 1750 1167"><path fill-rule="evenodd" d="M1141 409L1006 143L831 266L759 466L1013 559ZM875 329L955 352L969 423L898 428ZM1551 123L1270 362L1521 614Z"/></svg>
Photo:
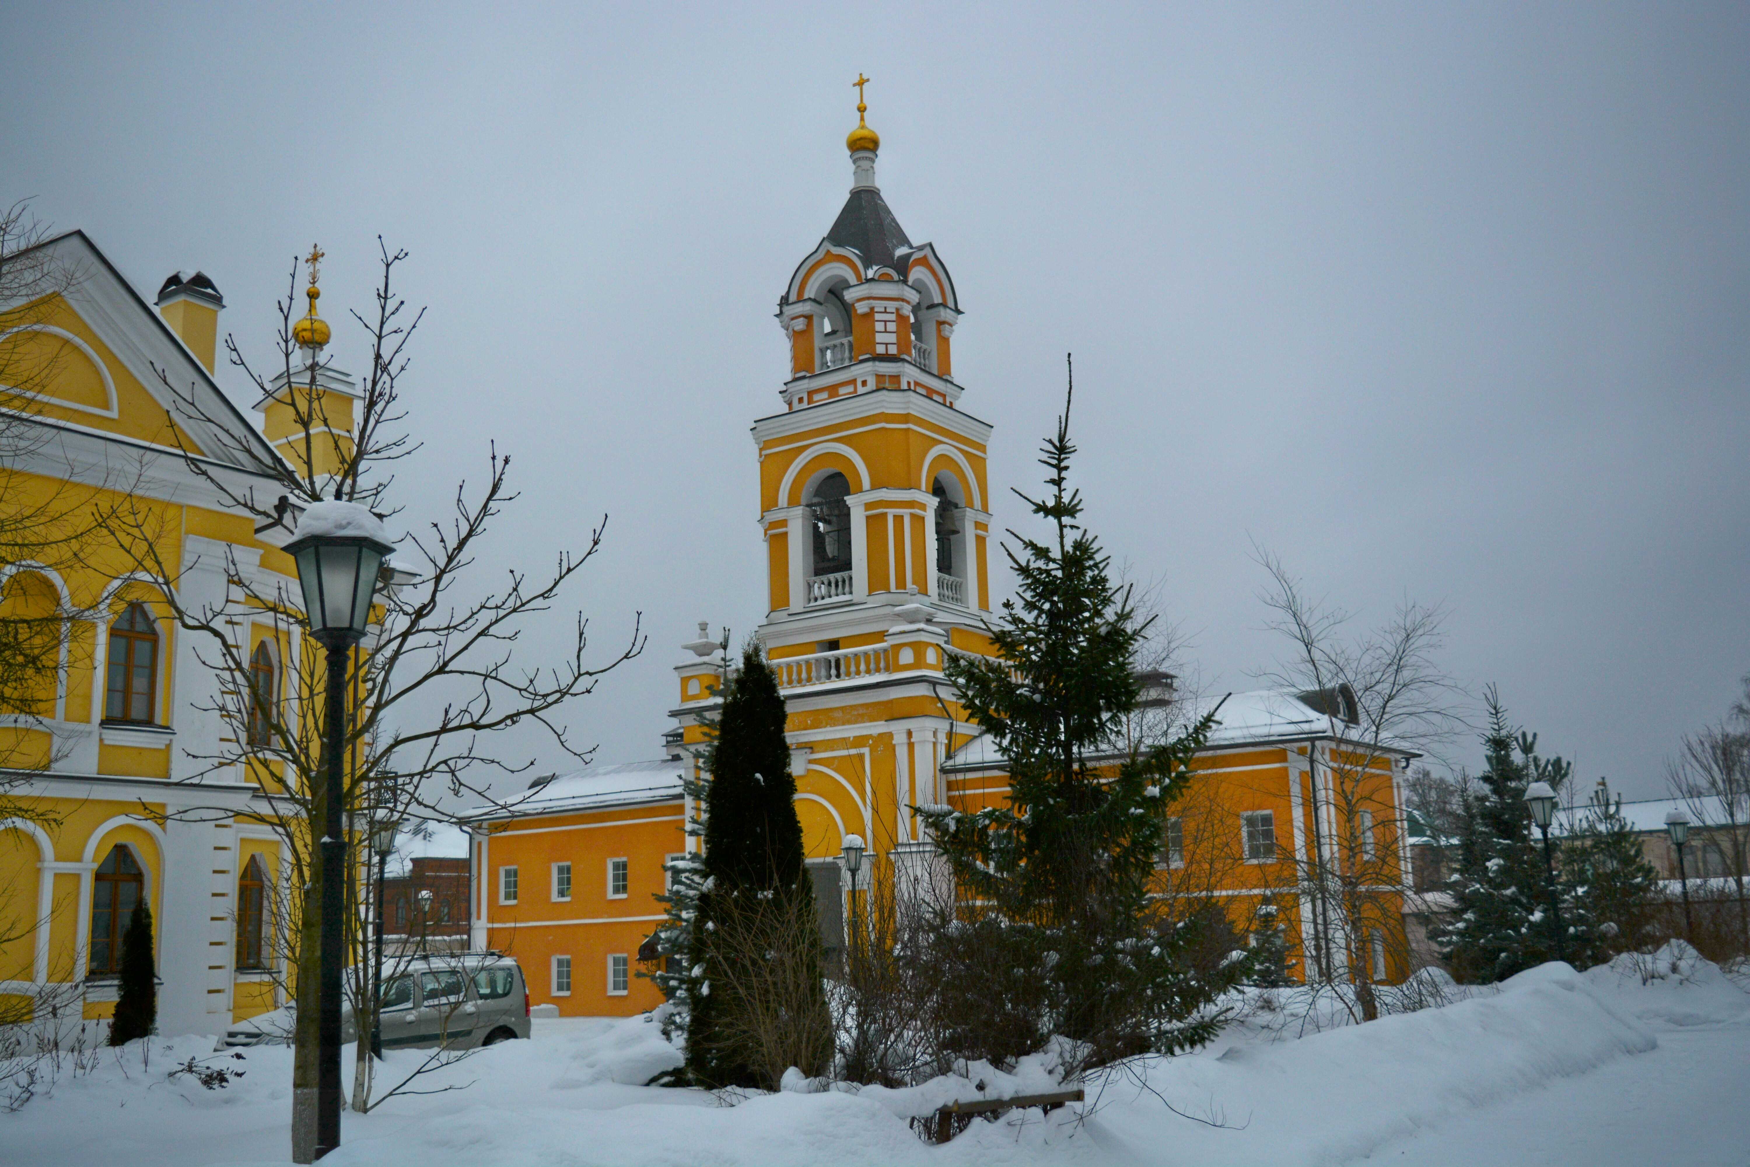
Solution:
<svg viewBox="0 0 1750 1167"><path fill-rule="evenodd" d="M696 896L691 936L695 950L688 969L690 1015L686 1067L704 1087L763 1087L765 1081L751 1053L721 1036L726 1015L746 1008L733 990L737 978L758 976L758 969L724 968L712 945L719 924L738 913L737 933L746 936L761 917L808 913L814 894L803 877L802 821L796 817L796 780L789 772L789 744L784 740L784 698L777 674L758 646L742 651L742 667L724 686L723 710L710 749L710 782L705 789L705 880ZM819 966L819 929L808 929ZM814 976L817 997L807 1004L817 1010L819 1032L831 1034L826 1018L826 990ZM812 1052L824 1069L830 1050Z"/></svg>

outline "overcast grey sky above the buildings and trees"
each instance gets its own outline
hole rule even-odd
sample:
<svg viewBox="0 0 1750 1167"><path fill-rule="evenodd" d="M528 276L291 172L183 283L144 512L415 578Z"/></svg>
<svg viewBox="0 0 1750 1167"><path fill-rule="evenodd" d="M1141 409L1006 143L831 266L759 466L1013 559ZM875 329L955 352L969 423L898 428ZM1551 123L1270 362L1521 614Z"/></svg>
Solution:
<svg viewBox="0 0 1750 1167"><path fill-rule="evenodd" d="M205 269L266 357L318 240L357 369L341 308L411 252L401 497L495 439L502 555L612 514L576 604L651 647L572 710L604 761L654 752L696 619L763 614L747 427L858 70L994 485L1073 350L1090 523L1204 686L1283 651L1255 544L1363 623L1446 604L1447 667L1631 794L1750 670L1741 3L7 7L0 201L140 292Z"/></svg>

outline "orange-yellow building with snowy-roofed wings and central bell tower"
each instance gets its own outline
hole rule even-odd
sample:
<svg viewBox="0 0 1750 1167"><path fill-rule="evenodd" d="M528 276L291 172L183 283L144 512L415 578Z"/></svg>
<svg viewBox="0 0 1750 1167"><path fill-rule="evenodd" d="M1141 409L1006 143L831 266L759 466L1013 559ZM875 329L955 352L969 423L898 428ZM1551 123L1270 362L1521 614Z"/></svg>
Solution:
<svg viewBox="0 0 1750 1167"><path fill-rule="evenodd" d="M756 637L786 698L796 812L830 945L845 920L847 835L868 847L858 887L906 894L940 878L910 807L1006 798L1001 759L987 754L943 674L950 653L992 651L984 633L990 425L961 408L952 360L961 308L947 264L933 245L908 240L882 198L875 131L859 124L847 147L845 206L779 299L784 408L752 425L768 563ZM474 945L514 954L532 999L562 1013L634 1013L660 1001L649 982L628 982L628 968L662 919L649 896L665 863L696 845L684 831L696 807L682 775L696 765L724 668L705 625L684 651L677 730L662 761L560 777L514 810L472 819ZM1332 934L1295 889L1309 856L1335 854L1320 770L1348 758L1346 723L1278 693L1241 695L1222 717L1197 759L1195 789L1174 812L1232 828L1209 843L1232 863L1216 863L1199 894L1223 903L1241 929L1264 908L1297 952L1302 934ZM1381 824L1368 826L1368 847L1386 854L1402 850L1388 829L1402 758L1362 759ZM1183 836L1178 819L1174 828ZM1169 835L1164 887L1176 866L1185 864ZM1334 943L1340 962L1368 938Z"/></svg>

